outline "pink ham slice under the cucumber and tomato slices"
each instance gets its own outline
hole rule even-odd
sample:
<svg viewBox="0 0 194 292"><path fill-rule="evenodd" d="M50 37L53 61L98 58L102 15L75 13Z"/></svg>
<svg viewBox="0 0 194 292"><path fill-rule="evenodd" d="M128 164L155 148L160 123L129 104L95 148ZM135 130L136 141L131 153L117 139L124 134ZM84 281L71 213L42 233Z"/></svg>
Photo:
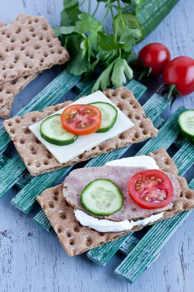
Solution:
<svg viewBox="0 0 194 292"><path fill-rule="evenodd" d="M128 182L129 179L137 172L145 170L144 167L128 167L128 166L101 166L101 167L85 167L73 170L68 177L65 178L63 195L68 203L70 203L73 208L80 209L83 212L97 218L109 219L113 221L121 220L138 220L144 219L154 214L161 213L166 210L172 209L175 201L178 200L180 196L180 186L178 183L178 178L174 174L166 173L170 178L173 188L174 197L173 201L166 207L155 210L148 210L139 207L134 203L129 197L128 192ZM81 204L81 192L88 183L96 179L109 179L115 183L121 193L123 194L123 206L122 208L115 212L114 214L106 217L95 216L88 213Z"/></svg>

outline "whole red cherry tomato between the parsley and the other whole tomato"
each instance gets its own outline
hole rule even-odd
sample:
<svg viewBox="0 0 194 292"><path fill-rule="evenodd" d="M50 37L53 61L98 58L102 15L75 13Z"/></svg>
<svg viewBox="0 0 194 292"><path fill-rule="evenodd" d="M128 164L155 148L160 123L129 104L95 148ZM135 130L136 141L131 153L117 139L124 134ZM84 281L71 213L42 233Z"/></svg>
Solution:
<svg viewBox="0 0 194 292"><path fill-rule="evenodd" d="M146 45L139 52L138 58L146 67L151 67L151 75L157 77L163 73L164 68L170 61L170 51L160 43Z"/></svg>

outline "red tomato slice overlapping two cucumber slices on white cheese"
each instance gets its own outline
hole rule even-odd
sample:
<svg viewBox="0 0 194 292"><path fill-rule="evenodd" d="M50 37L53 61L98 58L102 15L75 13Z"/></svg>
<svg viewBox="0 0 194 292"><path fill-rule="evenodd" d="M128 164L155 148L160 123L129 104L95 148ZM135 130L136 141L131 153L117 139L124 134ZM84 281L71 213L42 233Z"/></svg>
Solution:
<svg viewBox="0 0 194 292"><path fill-rule="evenodd" d="M72 105L65 108L61 123L65 130L75 135L89 135L101 126L101 111L91 105Z"/></svg>

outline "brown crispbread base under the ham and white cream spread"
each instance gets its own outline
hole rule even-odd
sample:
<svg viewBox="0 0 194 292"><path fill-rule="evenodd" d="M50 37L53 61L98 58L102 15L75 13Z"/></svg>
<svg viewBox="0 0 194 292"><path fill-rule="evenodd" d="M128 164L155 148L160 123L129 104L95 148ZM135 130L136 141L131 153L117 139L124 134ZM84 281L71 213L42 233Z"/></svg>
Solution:
<svg viewBox="0 0 194 292"><path fill-rule="evenodd" d="M161 170L178 175L177 166L165 149L161 148L147 155L155 159ZM181 211L194 208L194 191L188 188L184 178L179 178L179 183L181 187L180 198L172 210L164 212L160 220L173 217ZM87 226L82 226L77 221L73 208L64 199L62 190L62 184L49 188L40 196L37 196L37 200L69 256L79 255L108 241L116 240L143 228L143 226L135 226L130 231L101 233ZM150 223L149 225L152 224Z"/></svg>

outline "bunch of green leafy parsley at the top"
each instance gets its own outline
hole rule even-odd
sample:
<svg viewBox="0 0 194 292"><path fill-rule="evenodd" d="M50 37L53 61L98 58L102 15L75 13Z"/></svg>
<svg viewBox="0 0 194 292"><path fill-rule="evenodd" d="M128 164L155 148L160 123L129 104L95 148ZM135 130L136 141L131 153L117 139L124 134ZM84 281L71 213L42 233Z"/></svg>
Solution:
<svg viewBox="0 0 194 292"><path fill-rule="evenodd" d="M97 7L90 14L91 0L88 2L88 12L81 12L82 5L78 0L64 0L64 10L61 13L61 26L53 27L56 37L59 37L70 55L65 70L74 75L90 76L102 72L93 87L104 90L109 86L116 88L126 83L126 77L131 79L133 71L128 64L132 47L141 37L141 31L127 27L123 11L135 9L137 13L143 0L97 0ZM95 18L99 2L105 2L105 15L100 22ZM117 11L116 18L113 10ZM107 35L103 27L104 20L111 12L114 34Z"/></svg>

